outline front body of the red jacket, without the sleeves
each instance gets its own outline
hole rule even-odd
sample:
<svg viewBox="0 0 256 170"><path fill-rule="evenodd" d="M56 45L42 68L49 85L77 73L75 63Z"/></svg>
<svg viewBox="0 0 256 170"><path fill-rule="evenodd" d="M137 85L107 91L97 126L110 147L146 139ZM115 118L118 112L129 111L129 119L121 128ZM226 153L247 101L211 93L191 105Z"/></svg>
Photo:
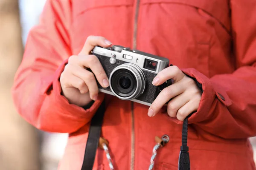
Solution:
<svg viewBox="0 0 256 170"><path fill-rule="evenodd" d="M166 57L179 68L195 68L207 77L230 74L232 55L228 0L76 0L72 2L71 50L78 54L89 35ZM182 125L163 113L148 117L148 106L112 97L105 112L102 136L109 142L115 169L148 169L154 137L169 135L160 148L156 170L177 170ZM81 169L88 126L70 134L59 169ZM246 139L228 141L189 125L192 170L252 170ZM232 162L230 164L229 162ZM108 170L103 150L95 170Z"/></svg>

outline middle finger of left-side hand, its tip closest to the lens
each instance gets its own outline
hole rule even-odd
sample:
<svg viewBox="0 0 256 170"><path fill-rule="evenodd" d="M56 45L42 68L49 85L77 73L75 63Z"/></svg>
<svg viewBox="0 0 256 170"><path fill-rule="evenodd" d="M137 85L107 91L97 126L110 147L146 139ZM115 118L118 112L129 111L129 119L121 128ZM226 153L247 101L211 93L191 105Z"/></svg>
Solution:
<svg viewBox="0 0 256 170"><path fill-rule="evenodd" d="M102 87L107 88L109 86L108 76L98 57L95 55L88 55L86 57L79 56L79 65L90 68Z"/></svg>

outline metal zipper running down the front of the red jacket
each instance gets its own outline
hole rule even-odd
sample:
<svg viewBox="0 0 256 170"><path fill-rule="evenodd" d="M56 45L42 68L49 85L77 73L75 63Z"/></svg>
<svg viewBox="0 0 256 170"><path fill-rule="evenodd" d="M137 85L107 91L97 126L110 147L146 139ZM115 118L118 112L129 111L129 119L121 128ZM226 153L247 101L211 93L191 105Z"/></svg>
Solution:
<svg viewBox="0 0 256 170"><path fill-rule="evenodd" d="M137 24L139 14L140 0L137 0L135 18L134 18L134 32L133 32L133 49L137 48ZM130 170L134 170L134 156L135 156L135 132L134 132L134 102L131 102L131 164Z"/></svg>

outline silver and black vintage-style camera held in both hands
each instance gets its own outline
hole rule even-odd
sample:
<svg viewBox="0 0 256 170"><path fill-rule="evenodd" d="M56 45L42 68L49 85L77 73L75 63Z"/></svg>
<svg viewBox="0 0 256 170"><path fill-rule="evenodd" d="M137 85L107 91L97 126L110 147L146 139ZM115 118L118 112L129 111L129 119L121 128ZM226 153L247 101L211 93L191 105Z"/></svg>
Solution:
<svg viewBox="0 0 256 170"><path fill-rule="evenodd" d="M172 83L167 81L160 86L152 85L154 77L169 66L169 59L164 57L120 45L109 48L96 46L92 54L98 57L110 82L108 88L103 88L97 82L99 91L119 99L149 106L160 91Z"/></svg>

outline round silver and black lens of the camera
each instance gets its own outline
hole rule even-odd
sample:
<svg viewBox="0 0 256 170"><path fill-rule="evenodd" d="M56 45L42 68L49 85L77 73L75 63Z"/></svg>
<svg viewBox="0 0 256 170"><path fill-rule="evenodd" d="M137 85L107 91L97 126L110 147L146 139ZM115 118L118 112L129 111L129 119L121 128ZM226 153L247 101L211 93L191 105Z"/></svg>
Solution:
<svg viewBox="0 0 256 170"><path fill-rule="evenodd" d="M145 89L143 71L134 64L122 64L113 69L110 75L110 88L119 99L135 99Z"/></svg>

